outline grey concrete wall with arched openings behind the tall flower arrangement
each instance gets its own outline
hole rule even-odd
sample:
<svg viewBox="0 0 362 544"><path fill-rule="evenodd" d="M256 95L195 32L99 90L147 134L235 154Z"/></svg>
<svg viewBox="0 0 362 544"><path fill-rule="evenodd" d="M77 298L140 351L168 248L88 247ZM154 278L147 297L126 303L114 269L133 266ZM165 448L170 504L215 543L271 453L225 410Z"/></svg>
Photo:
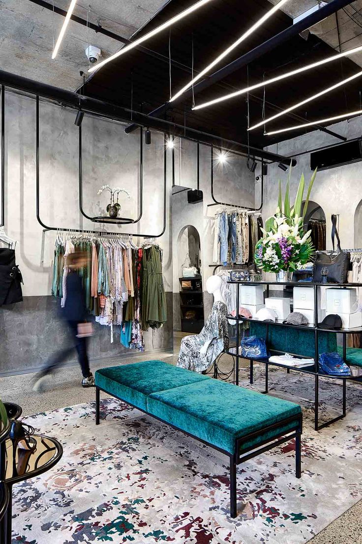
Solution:
<svg viewBox="0 0 362 544"><path fill-rule="evenodd" d="M360 137L362 131L361 118L335 123L330 127L348 139ZM268 151L278 152L284 156L293 156L294 153L313 150L316 147L335 144L338 140L320 131L283 141L278 145L267 147ZM304 172L306 184L312 176L310 170L310 154L296 157L297 165L291 174L291 199L295 197L299 178ZM264 208L263 218L268 218L275 212L278 195L278 180L282 179L283 187L287 183L288 172L280 170L276 164L268 166L268 176L264 181ZM342 248L362 247L362 213L360 203L362 162L338 166L317 172L311 199L319 204L326 215L327 221L327 249L332 249L331 242L331 214L340 214L339 234ZM357 212L357 213L356 213Z"/></svg>

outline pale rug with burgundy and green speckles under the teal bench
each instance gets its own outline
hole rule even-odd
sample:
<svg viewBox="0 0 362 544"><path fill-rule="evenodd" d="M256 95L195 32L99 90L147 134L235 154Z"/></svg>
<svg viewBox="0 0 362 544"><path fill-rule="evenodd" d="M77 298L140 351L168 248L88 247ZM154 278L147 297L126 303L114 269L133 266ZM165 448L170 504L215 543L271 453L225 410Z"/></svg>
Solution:
<svg viewBox="0 0 362 544"><path fill-rule="evenodd" d="M347 417L315 432L313 378L269 376L271 394L303 406L300 480L294 444L239 465L233 520L223 454L117 400L102 401L99 426L94 403L66 407L27 418L64 454L52 471L14 486L12 543L307 542L362 498L362 390L348 385ZM255 377L261 389L262 368ZM332 416L340 384L321 380L320 396L321 413Z"/></svg>

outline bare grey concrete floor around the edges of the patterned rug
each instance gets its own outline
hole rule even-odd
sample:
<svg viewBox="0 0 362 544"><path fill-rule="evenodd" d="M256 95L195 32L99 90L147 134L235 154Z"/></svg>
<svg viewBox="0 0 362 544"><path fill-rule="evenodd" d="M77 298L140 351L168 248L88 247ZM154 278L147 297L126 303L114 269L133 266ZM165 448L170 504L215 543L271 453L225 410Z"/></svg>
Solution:
<svg viewBox="0 0 362 544"><path fill-rule="evenodd" d="M176 335L175 347L181 342L183 334ZM178 350L175 350L177 353ZM170 353L155 353L154 358L170 363L176 362L176 357ZM131 362L142 361L145 359L143 354L130 358L107 360L106 366L116 366L117 364L128 364ZM231 359L230 359L231 360ZM230 368L230 360L223 357L223 370ZM102 368L105 363L99 361L92 364L92 371ZM63 367L57 373L49 375L42 393L34 393L31 390L35 375L22 374L18 376L9 376L0 379L0 398L6 401L12 401L20 404L23 408L23 415L33 415L34 413L46 412L73 406L75 404L87 403L94 400L94 388L81 387L81 373L78 366ZM104 395L106 397L106 395ZM326 478L328 475L326 475ZM353 506L344 515L340 516L331 523L319 535L315 536L311 544L362 544L362 501ZM245 544L251 544L246 543ZM267 543L266 543L267 544Z"/></svg>

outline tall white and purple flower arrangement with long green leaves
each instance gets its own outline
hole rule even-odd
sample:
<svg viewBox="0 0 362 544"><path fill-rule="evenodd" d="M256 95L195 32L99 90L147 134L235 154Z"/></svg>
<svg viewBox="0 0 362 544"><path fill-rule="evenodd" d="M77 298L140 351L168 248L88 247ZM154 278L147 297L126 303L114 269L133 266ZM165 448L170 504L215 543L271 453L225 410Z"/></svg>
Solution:
<svg viewBox="0 0 362 544"><path fill-rule="evenodd" d="M314 254L314 247L310 239L310 232L304 232L303 220L307 212L310 191L316 176L316 170L309 182L306 201L302 211L304 195L304 175L302 174L296 199L293 207L290 207L289 187L290 171L285 190L284 209L282 205L282 188L279 182L279 200L275 215L265 223L262 229L264 237L256 244L255 262L258 268L265 272L287 271L289 273L297 270L301 265L310 261Z"/></svg>

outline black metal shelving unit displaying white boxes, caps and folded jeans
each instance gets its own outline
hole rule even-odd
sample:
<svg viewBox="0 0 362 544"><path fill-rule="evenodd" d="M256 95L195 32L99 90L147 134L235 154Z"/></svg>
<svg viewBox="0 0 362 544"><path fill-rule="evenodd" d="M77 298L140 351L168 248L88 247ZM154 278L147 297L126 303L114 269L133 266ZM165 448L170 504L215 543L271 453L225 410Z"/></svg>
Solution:
<svg viewBox="0 0 362 544"><path fill-rule="evenodd" d="M236 345L230 346L228 351L225 353L232 355L235 357L235 365L236 365L236 385L239 385L239 359L249 360L250 361L250 383L253 383L253 362L259 362L265 364L265 393L268 393L269 388L269 365L276 366L280 368L285 368L290 373L290 370L294 370L295 372L301 372L304 374L310 374L314 376L314 428L315 430L319 431L320 429L323 429L324 427L331 425L332 423L335 423L336 421L339 421L339 419L342 419L346 416L346 382L347 380L350 381L360 381L360 378L354 378L353 376L334 376L331 374L323 374L319 371L319 332L333 332L338 333L342 335L342 350L343 355L342 358L346 362L346 335L353 334L353 333L362 333L362 327L355 327L353 329L327 329L326 327L319 326L318 321L318 288L319 287L338 287L338 288L348 288L348 287L361 287L360 283L314 283L314 282L308 282L308 283L300 283L300 282L288 282L288 283L281 283L281 282L269 282L269 281L260 281L260 282L250 282L250 281L229 281L228 283L235 283L238 285L265 285L266 287L266 297L269 296L269 287L272 285L275 286L289 286L289 287L313 287L314 288L314 316L315 316L315 324L314 325L291 325L289 323L281 323L281 322L266 322L266 321L259 321L257 319L247 319L244 317L239 317L238 315L236 317L228 316L228 319L235 320L236 322ZM237 308L239 308L239 302L240 302L240 293L239 289L237 289ZM272 363L268 359L263 358L251 358L251 357L245 357L242 355L239 355L239 345L240 345L240 331L239 331L239 324L243 322L250 322L250 323L261 323L264 324L266 327L266 344L268 345L269 340L269 326L272 325L278 325L283 327L291 327L294 329L299 330L313 330L314 331L314 348L315 348L315 354L314 354L314 361L315 364L313 367L291 367L287 364L282 363ZM236 353L233 353L230 351L230 348L235 348ZM283 351L277 351L269 349L273 354L283 354ZM291 354L295 355L296 357L301 357L301 354ZM327 422L319 424L319 378L329 378L332 380L341 380L342 381L342 413L341 415L334 417L333 419L329 419Z"/></svg>

